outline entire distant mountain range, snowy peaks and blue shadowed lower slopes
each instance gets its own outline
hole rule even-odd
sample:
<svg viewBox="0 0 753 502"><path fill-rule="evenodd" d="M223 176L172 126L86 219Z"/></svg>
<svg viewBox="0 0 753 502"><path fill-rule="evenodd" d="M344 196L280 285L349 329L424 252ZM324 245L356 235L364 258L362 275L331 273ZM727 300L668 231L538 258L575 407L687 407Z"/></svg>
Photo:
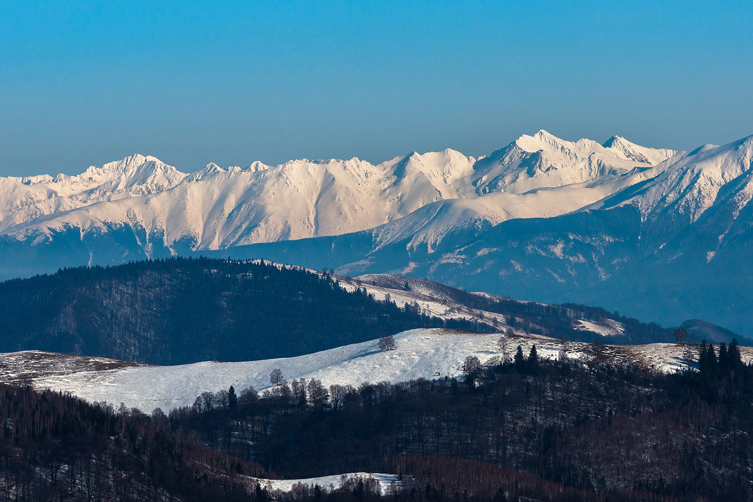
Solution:
<svg viewBox="0 0 753 502"><path fill-rule="evenodd" d="M0 278L175 255L428 278L753 328L753 136L690 152L541 130L488 157L209 164L134 155L0 178Z"/></svg>

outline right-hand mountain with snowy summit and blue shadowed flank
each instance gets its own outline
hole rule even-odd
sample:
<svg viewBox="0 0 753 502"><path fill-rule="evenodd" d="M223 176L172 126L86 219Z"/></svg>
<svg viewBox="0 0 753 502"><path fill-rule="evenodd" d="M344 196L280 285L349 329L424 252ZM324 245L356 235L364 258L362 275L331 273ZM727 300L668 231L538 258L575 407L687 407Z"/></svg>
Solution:
<svg viewBox="0 0 753 502"><path fill-rule="evenodd" d="M602 305L665 325L700 317L750 338L751 158L753 137L706 145L621 175L609 185L623 188L571 214L456 224L442 239L428 237L434 223L398 228L412 222L409 215L365 233L230 251L340 274L413 275L542 303Z"/></svg>

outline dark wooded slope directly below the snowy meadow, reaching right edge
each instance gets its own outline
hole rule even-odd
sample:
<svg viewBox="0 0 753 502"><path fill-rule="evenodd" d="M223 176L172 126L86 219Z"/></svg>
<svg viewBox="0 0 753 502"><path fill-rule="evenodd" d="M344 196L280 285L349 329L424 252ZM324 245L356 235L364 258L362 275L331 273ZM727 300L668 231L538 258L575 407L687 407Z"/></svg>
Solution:
<svg viewBox="0 0 753 502"><path fill-rule="evenodd" d="M464 381L285 382L262 396L209 394L169 420L285 478L421 477L401 459L467 459L605 497L751 500L753 367L736 344L701 351L700 371L666 375L539 361L532 348L495 367L466 361ZM440 478L429 481L437 490ZM454 493L445 487L447 500Z"/></svg>

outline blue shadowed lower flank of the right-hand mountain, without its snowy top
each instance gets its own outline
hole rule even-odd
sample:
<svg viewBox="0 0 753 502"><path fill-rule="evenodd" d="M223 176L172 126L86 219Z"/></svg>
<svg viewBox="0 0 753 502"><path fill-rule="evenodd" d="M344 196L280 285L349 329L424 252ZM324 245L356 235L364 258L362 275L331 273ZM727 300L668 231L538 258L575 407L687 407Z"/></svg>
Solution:
<svg viewBox="0 0 753 502"><path fill-rule="evenodd" d="M642 239L639 211L626 205L505 221L433 253L411 249L407 239L373 249L368 233L227 251L233 257L333 267L343 275L411 275L521 300L601 305L669 326L703 317L750 336L753 330L742 315L753 311L750 230L725 239L710 254L703 233L714 224L709 214L662 248L651 249Z"/></svg>

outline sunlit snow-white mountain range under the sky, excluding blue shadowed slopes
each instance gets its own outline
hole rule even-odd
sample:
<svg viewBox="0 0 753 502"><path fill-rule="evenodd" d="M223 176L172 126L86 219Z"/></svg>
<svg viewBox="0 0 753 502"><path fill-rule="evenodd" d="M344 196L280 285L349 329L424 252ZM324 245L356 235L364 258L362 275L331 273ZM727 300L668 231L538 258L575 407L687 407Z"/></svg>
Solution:
<svg viewBox="0 0 753 502"><path fill-rule="evenodd" d="M77 176L0 178L0 235L39 243L71 229L84 239L130 228L144 236L138 251L151 256L157 239L157 248L188 241L196 251L386 225L383 245L410 234L411 245L431 250L457 228L575 211L626 187L624 173L673 153L610 141L539 131L480 159L447 149L378 165L355 157L245 169L210 163L191 175L134 155Z"/></svg>

